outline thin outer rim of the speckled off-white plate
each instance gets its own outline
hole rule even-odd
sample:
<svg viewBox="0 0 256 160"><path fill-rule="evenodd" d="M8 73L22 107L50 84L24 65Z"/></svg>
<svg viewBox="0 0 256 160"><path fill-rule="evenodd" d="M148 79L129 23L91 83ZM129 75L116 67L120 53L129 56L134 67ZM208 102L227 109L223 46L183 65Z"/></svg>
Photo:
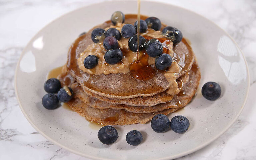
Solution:
<svg viewBox="0 0 256 160"><path fill-rule="evenodd" d="M116 1L116 0L114 0ZM137 0L118 0L118 1L137 1ZM146 2L150 2L150 3L160 3L160 4L163 4L163 5L170 5L170 6L173 6L173 7L176 7L176 8L179 8L181 10L186 10L188 12L191 12L193 14L196 14L197 16L201 17L201 18L204 18L205 20L211 22L213 25L215 25L217 28L219 28L220 30L222 30L231 40L232 42L236 45L236 47L238 48L238 50L241 52L242 54L242 57L243 57L243 60L245 62L245 66L246 66L246 73L248 75L248 80L247 80L247 87L246 87L246 96L245 96L245 99L244 99L244 102L241 106L241 109L240 111L237 113L236 117L220 132L218 133L214 138L208 140L208 141L205 141L204 143L202 143L201 145L193 148L193 149L190 149L190 150L187 150L185 152L181 152L179 154L176 154L176 155L171 155L171 156L168 156L168 157L163 157L163 158L157 158L157 159L152 159L152 160L170 160L170 159L175 159L175 158L179 158L179 157L182 157L182 156L185 156L185 155L188 155L190 153L193 153L193 152L196 152L200 149L202 149L203 147L209 145L210 143L212 143L214 140L216 140L217 138L219 138L222 134L224 134L233 124L234 122L238 119L238 117L240 116L241 112L243 111L244 109L244 106L247 102L247 99L248 99L248 94L249 94L249 88L250 88L250 74L249 74L249 68L248 68L248 64L247 64L247 61L246 61L246 58L244 56L244 53L242 52L241 48L238 46L238 44L236 43L236 41L224 30L222 29L220 26L218 26L215 22L213 22L212 20L204 17L203 15L200 15L199 13L196 13L192 10L189 10L189 9L186 9L184 7L180 7L180 6L177 6L177 5L174 5L174 4L171 4L171 3L167 3L167 2L158 2L158 1L153 1L153 0L142 0L142 1L146 1ZM97 160L110 160L110 159L107 159L107 158L100 158L100 157L96 157L96 156L92 156L92 155L89 155L89 154L86 154L86 153L81 153L81 152L78 152L76 150L73 150L69 147L66 147L62 144L60 144L59 142L55 141L54 139L50 138L49 136L47 136L43 131L41 131L32 121L31 119L28 117L28 115L26 114L26 112L24 111L21 103L20 103L20 99L18 97L18 93L17 93L17 71L18 71L18 68L19 68L19 65L20 65L20 61L22 59L22 57L24 56L25 54L25 49L28 47L28 45L30 43L32 43L32 40L35 39L35 37L43 30L45 29L46 27L48 27L49 25L51 25L51 23L55 22L56 20L58 20L59 18L62 18L72 12L75 12L76 10L79 10L79 9L82 9L84 7L88 7L88 6L91 6L91 5L97 5L97 4L100 4L100 3L106 3L106 1L102 1L102 2L96 2L96 3L92 3L92 4L89 4L89 5L84 5L82 7L79 7L79 8L76 8L72 11L69 11L65 14L62 14L61 16L55 18L54 20L50 21L48 24L46 24L43 28L41 28L26 44L26 46L24 47L24 49L22 50L21 54L20 54L20 57L17 61L17 65L16 65L16 69L15 69L15 75L14 75L14 90L15 90L15 96L16 96L16 99L17 99L17 102L19 104L19 107L23 113L23 115L25 116L25 118L27 119L27 121L32 125L32 127L38 131L43 137L45 137L46 139L48 139L49 141L51 141L52 143L56 144L57 146L61 147L61 148L64 148L65 150L67 151L70 151L71 153L74 153L74 154L77 154L77 155L80 155L80 156L83 156L83 157L86 157L86 158L90 158L90 159L97 159Z"/></svg>

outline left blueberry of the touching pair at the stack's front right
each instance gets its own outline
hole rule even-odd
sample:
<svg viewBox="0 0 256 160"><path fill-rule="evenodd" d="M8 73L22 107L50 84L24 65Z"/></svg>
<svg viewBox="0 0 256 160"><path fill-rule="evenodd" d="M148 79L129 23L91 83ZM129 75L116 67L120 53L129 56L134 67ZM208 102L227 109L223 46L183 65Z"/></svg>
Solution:
<svg viewBox="0 0 256 160"><path fill-rule="evenodd" d="M158 133L166 132L170 126L169 118L164 114L157 114L151 120L151 128Z"/></svg>

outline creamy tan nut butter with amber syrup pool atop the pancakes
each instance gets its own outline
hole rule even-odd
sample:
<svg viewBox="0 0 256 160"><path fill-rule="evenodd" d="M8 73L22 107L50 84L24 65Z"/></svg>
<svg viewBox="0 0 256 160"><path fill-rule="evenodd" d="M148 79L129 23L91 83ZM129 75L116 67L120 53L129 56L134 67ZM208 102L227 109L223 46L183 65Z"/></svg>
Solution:
<svg viewBox="0 0 256 160"><path fill-rule="evenodd" d="M116 28L121 32L121 29L123 27L124 23L117 23L116 25L111 25L108 28L105 28L105 30L109 28ZM163 53L169 54L171 57L173 57L172 65L164 72L164 76L166 80L170 83L170 87L166 90L166 93L171 95L176 95L179 93L178 84L176 82L177 76L179 75L182 67L182 60L183 57L178 57L181 61L176 63L176 54L173 51L173 43L172 41L163 38L161 31L155 31L153 29L148 29L146 33L140 34L145 39L149 40L152 38L158 39L164 47ZM90 75L101 75L101 74L118 74L123 73L127 74L130 72L131 76L140 80L149 80L152 77L154 77L155 69L153 69L151 66L155 64L155 58L149 57L145 51L140 52L133 52L129 49L128 46L128 38L121 37L120 40L118 40L118 44L120 47L120 50L123 52L123 58L122 61L118 64L110 65L105 62L104 54L106 50L103 47L102 41L99 43L93 43L89 45L84 52L80 54L80 57L78 58L78 66L83 71ZM99 58L98 65L94 67L93 69L86 69L84 67L83 61L88 55L95 55ZM138 55L138 61L137 61L137 55Z"/></svg>

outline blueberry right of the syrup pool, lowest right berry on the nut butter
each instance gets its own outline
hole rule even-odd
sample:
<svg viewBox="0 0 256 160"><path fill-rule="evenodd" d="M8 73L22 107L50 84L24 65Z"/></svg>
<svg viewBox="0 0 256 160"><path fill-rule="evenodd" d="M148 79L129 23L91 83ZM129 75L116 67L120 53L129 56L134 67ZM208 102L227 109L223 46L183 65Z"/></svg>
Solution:
<svg viewBox="0 0 256 160"><path fill-rule="evenodd" d="M156 68L159 70L165 70L172 65L172 57L169 54L161 54L155 60Z"/></svg>

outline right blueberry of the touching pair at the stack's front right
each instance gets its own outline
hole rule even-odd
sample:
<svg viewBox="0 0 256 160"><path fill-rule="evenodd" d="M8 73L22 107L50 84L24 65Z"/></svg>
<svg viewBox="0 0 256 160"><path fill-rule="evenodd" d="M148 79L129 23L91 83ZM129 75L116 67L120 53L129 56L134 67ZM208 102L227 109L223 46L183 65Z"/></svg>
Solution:
<svg viewBox="0 0 256 160"><path fill-rule="evenodd" d="M185 133L189 127L189 120L184 116L175 116L171 119L170 127L176 133Z"/></svg>

